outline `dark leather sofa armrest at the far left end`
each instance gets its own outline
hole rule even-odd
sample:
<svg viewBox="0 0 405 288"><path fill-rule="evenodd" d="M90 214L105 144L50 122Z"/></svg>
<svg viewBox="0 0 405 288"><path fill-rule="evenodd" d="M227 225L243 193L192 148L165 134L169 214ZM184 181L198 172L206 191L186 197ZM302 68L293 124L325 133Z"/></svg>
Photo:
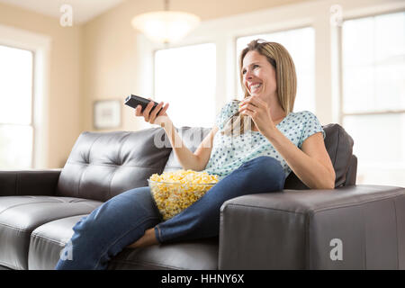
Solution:
<svg viewBox="0 0 405 288"><path fill-rule="evenodd" d="M54 195L61 169L0 171L0 196Z"/></svg>

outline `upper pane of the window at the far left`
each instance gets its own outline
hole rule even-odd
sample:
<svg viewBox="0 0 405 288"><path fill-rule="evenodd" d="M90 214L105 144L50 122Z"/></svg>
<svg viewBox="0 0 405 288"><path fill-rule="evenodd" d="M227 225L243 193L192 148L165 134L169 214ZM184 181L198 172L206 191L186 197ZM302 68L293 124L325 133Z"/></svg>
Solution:
<svg viewBox="0 0 405 288"><path fill-rule="evenodd" d="M32 53L0 46L0 123L31 123Z"/></svg>

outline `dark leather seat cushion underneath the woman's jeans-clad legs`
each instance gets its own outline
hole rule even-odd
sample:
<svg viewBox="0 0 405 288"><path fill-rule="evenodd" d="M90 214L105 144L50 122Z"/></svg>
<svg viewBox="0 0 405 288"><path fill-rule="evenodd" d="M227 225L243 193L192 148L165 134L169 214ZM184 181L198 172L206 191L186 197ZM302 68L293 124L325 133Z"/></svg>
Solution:
<svg viewBox="0 0 405 288"><path fill-rule="evenodd" d="M28 263L30 269L54 269L60 251L73 235L81 216L46 223L32 232ZM66 255L73 257L75 255ZM184 241L141 248L125 248L108 269L218 269L218 238Z"/></svg>

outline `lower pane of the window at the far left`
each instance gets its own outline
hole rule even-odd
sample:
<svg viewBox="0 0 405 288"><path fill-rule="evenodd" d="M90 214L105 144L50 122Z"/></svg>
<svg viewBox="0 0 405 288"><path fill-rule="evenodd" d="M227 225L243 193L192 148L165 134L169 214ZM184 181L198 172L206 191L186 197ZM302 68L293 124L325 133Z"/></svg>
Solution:
<svg viewBox="0 0 405 288"><path fill-rule="evenodd" d="M0 125L0 169L31 167L32 127Z"/></svg>

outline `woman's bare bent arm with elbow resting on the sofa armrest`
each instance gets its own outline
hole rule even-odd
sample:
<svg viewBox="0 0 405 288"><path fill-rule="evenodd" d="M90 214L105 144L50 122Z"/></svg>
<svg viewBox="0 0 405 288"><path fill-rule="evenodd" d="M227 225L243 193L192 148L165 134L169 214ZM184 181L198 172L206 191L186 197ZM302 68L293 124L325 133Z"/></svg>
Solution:
<svg viewBox="0 0 405 288"><path fill-rule="evenodd" d="M335 188L335 169L325 148L322 133L315 133L305 139L302 149L296 147L277 129L267 132L265 136L303 184L311 189Z"/></svg>

